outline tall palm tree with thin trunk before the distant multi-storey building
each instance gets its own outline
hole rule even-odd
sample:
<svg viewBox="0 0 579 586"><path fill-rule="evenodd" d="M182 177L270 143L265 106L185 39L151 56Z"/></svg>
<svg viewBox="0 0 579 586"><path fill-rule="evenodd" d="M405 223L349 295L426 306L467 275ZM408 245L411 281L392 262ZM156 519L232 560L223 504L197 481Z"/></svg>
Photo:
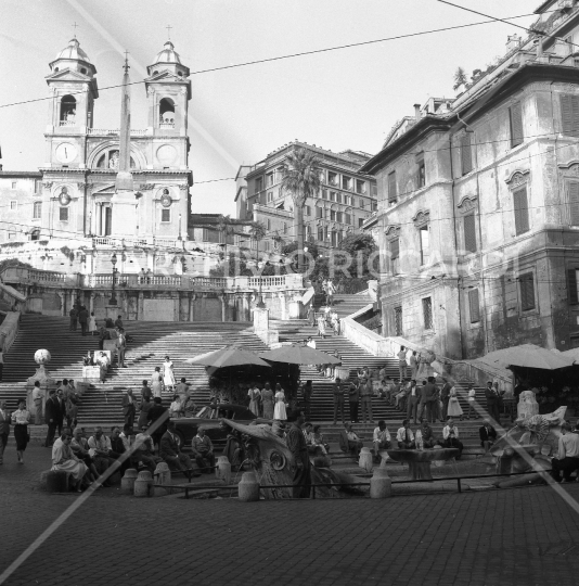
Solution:
<svg viewBox="0 0 579 586"><path fill-rule="evenodd" d="M287 153L282 170L282 189L292 193L294 200L294 224L297 241L297 270L304 264L304 206L308 198L313 198L322 184L320 160L306 149L295 149Z"/></svg>

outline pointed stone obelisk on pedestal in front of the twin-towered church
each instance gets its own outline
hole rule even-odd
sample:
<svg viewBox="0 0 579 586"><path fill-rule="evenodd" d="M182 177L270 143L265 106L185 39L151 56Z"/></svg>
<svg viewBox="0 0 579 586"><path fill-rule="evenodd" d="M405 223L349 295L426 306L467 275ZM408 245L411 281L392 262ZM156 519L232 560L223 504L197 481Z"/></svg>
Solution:
<svg viewBox="0 0 579 586"><path fill-rule="evenodd" d="M120 103L120 135L118 173L115 180L113 204L113 235L134 235L137 233L137 205L131 173L131 98L129 62L125 58L123 76L123 95Z"/></svg>

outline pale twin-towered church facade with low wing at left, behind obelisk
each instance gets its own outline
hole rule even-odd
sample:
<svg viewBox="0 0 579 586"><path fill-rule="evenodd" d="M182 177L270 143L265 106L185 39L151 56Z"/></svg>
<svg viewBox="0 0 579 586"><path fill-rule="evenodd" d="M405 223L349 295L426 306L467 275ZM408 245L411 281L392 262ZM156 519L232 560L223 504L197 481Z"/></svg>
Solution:
<svg viewBox="0 0 579 586"><path fill-rule="evenodd" d="M51 99L44 164L29 177L0 174L0 205L13 224L0 232L0 242L126 235L143 243L186 240L190 72L171 41L147 72L147 127L128 128L134 226L127 226L123 209L115 213L120 129L94 128L97 67L74 38L50 63L47 76Z"/></svg>

